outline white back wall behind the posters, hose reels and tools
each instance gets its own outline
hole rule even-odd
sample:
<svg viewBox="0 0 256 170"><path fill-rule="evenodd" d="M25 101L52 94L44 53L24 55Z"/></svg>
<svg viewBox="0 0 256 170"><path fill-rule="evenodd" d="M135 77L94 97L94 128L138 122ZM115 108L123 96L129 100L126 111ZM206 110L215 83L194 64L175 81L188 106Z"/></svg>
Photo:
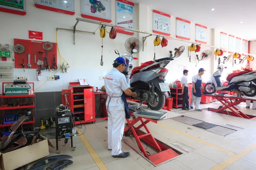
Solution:
<svg viewBox="0 0 256 170"><path fill-rule="evenodd" d="M115 24L116 20L116 1L112 0L112 24ZM76 17L81 17L81 1L77 0L75 3L75 15L61 14L57 12L47 11L43 9L36 8L33 0L27 1L27 14L25 16L9 14L0 12L0 21L8 21L8 24L0 25L0 43L5 44L9 43L13 47L13 39L28 39L28 30L32 31L42 31L43 32L43 41L56 42L55 34L56 28L68 28L72 29L73 25L76 23ZM143 31L152 31L152 14L153 9L145 6L143 4L135 4L134 6L134 28L143 30ZM169 14L172 15L170 12ZM171 17L171 37L176 37L176 17ZM183 18L186 20L186 18ZM199 23L200 24L200 23ZM77 29L81 31L95 31L98 26L96 24L89 24L79 22ZM190 27L191 32L191 41L195 42L195 23L191 23ZM107 27L109 31L110 28ZM220 32L221 30L208 28L207 31L207 45L220 46ZM227 32L228 33L228 32ZM140 42L143 43L143 37L147 34L135 33L134 36L129 36L126 34L118 34L115 40L108 38L108 35L103 40L103 62L104 65L100 65L101 59L101 41L99 37L99 30L96 31L96 35L93 34L84 34L76 32L76 45L73 45L73 32L72 31L58 31L58 46L60 49L61 55L70 65L68 73L62 73L59 71L56 75L60 75L61 79L58 81L48 81L47 76L53 74L53 72L43 71L41 80L36 80L36 71L35 69L26 69L26 72L23 72L23 69L14 69L14 77L16 76L29 76L29 82L35 82L35 88L38 88L36 92L46 92L46 91L61 91L61 89L66 89L69 82L75 82L78 79L87 79L90 85L96 85L99 88L104 85L103 80L99 80L99 76L105 75L111 68L113 60L117 57L114 53L114 49L118 49L120 54L125 54L124 44L125 41L130 37L137 37ZM141 62L146 62L148 60L153 60L154 58L154 36L148 37L145 41L144 51L140 51L139 54L134 57L139 57L138 61L134 61L134 65L139 65ZM200 61L195 67L195 52L191 52L191 62L189 62L189 45L188 42L178 41L178 40L169 40L167 47L162 48L160 45L155 48L156 58L169 57L169 51L175 52L174 49L180 47L181 45L185 46L184 53L171 61L167 68L169 73L166 77L166 82L172 83L176 79L182 77L182 72L177 72L177 65L186 66L189 70L189 81L191 77L198 73L199 68L205 68L207 71L203 76L203 80L207 81L210 75L216 70L218 60L215 60L213 54L214 49L206 46L201 46L202 49L198 53L201 54L204 50L211 50L212 57L207 61ZM252 48L251 48L252 50ZM224 54L228 55L228 54ZM12 62L11 59L8 59L8 62ZM59 54L58 54L58 68L61 63L59 63ZM241 65L228 65L230 68L227 72L232 72L233 70L240 69ZM44 85L42 85L46 82ZM190 81L191 82L191 81ZM2 89L2 88L0 88Z"/></svg>

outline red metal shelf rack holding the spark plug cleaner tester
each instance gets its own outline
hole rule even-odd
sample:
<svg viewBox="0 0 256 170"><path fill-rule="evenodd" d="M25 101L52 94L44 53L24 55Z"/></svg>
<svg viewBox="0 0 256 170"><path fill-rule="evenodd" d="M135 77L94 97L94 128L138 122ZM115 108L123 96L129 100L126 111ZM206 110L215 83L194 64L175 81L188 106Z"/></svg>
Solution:
<svg viewBox="0 0 256 170"><path fill-rule="evenodd" d="M32 106L15 106L15 107L7 107L7 105L2 105L0 107L0 111L2 111L2 116L3 116L3 119L5 117L4 115L4 111L6 110L12 110L12 109L22 109L22 108L32 108L32 121L29 121L29 122L23 122L21 125L26 125L26 124L32 124L33 126L33 129L34 129L34 126L35 126L35 94L32 94L32 95L5 95L4 93L4 88L5 88L5 84L13 84L13 82L2 82L2 91L3 93L0 95L0 98L2 99L2 103L4 103L4 98L13 98L13 97L32 97L33 98L33 105ZM27 82L27 84L32 84L32 89L34 90L35 87L34 87L34 83L33 82ZM10 127L12 126L12 124L5 124L3 125L3 120L1 121L1 124L0 124L0 127Z"/></svg>

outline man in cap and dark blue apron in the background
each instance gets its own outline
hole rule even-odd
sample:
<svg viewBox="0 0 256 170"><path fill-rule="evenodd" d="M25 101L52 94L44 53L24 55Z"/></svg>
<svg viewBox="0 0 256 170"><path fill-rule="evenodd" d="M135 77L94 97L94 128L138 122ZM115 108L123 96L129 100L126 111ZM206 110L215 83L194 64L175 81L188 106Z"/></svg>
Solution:
<svg viewBox="0 0 256 170"><path fill-rule="evenodd" d="M192 77L192 99L190 102L190 108L193 108L193 105L195 103L195 111L202 111L200 109L200 102L201 102L201 97L202 97L202 75L204 74L204 68L200 68L198 70L198 74Z"/></svg>

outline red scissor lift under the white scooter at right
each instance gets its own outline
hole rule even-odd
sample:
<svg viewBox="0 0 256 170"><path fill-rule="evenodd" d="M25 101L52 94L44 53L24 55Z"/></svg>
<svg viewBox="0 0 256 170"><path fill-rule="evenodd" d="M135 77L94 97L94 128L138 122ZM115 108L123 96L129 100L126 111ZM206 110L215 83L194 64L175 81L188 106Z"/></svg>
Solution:
<svg viewBox="0 0 256 170"><path fill-rule="evenodd" d="M208 111L213 111L216 113L222 113L227 114L231 116L237 116L245 119L251 119L256 121L256 116L247 115L244 114L242 111L239 111L238 108L236 108L236 105L240 104L241 102L245 102L246 100L256 101L255 97L238 97L233 95L218 95L218 94L204 94L205 96L210 96L215 99L217 99L219 102L221 102L224 106L219 107L218 109L215 108L208 108ZM230 99L236 100L235 102L230 102ZM229 109L230 111L227 111L226 109Z"/></svg>

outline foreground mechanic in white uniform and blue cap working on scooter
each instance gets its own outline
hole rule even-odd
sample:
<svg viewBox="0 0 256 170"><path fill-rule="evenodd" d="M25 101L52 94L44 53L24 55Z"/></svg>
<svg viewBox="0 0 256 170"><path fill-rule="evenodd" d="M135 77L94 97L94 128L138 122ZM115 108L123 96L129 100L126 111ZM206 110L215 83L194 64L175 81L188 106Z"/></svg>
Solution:
<svg viewBox="0 0 256 170"><path fill-rule="evenodd" d="M125 94L136 97L129 88L126 77L122 72L125 70L125 59L122 57L116 58L113 63L113 68L105 76L105 88L108 94L106 107L108 111L108 150L112 150L111 154L114 158L126 158L130 155L129 152L122 152L121 140L125 128L125 118L130 116L127 113ZM125 102L124 102L125 101ZM127 106L127 107L126 107Z"/></svg>

